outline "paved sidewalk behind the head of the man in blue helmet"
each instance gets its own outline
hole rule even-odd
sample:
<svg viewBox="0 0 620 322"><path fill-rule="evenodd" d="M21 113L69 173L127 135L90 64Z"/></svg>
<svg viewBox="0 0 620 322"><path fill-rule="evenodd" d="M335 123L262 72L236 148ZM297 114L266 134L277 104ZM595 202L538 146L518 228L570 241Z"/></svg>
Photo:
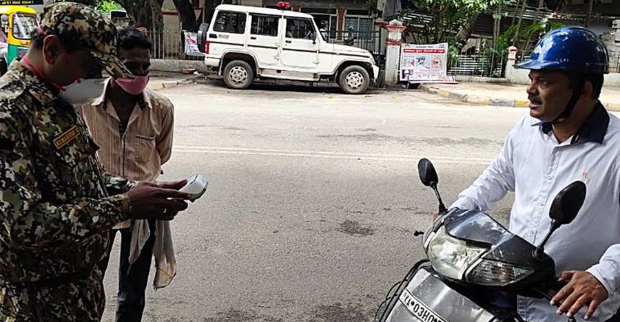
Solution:
<svg viewBox="0 0 620 322"><path fill-rule="evenodd" d="M528 107L527 85L507 83L422 84L426 92L477 105ZM620 111L620 87L605 87L601 102L610 111Z"/></svg>

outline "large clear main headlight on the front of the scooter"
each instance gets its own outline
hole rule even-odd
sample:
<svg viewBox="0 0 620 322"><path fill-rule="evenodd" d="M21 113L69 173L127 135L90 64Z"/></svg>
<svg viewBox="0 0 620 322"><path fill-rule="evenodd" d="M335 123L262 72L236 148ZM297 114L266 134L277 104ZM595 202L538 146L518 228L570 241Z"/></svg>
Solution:
<svg viewBox="0 0 620 322"><path fill-rule="evenodd" d="M451 237L444 226L428 235L426 244L426 255L433 268L441 275L456 280L463 279L469 266L487 250Z"/></svg>

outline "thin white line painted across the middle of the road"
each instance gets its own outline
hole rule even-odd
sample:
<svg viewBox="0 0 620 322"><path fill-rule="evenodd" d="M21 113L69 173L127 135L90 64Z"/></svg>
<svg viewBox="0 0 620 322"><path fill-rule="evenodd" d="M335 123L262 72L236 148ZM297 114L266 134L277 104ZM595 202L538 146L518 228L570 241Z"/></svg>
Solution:
<svg viewBox="0 0 620 322"><path fill-rule="evenodd" d="M438 163L453 164L476 164L487 165L490 159L447 157L440 155L409 155L409 154L379 154L379 153L344 153L333 151L301 151L301 150L278 150L278 149L255 149L241 147L198 147L177 145L174 151L178 153L210 153L210 154L235 154L235 155L269 155L291 158L325 158L325 159L353 159L353 160L377 160L377 161L402 161L417 163L420 158L428 158Z"/></svg>

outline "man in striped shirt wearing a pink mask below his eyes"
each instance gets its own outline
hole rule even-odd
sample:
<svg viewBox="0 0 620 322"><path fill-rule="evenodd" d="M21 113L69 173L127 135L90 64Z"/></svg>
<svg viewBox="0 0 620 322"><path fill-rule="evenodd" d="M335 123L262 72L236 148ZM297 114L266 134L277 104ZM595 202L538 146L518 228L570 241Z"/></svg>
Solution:
<svg viewBox="0 0 620 322"><path fill-rule="evenodd" d="M79 105L107 171L123 178L154 181L170 158L174 111L164 96L146 89L149 81L149 39L135 28L120 30L118 56L136 78L108 79L103 95ZM152 257L155 288L167 286L176 274L169 223L132 220L114 227L121 233L116 321L141 321ZM109 259L109 258L108 258ZM102 261L105 272L107 259Z"/></svg>

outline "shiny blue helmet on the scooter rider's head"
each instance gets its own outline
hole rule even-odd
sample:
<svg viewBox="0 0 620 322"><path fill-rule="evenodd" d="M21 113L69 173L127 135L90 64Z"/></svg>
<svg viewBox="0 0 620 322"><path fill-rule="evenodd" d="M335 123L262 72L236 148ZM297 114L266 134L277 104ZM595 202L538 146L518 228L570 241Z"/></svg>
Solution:
<svg viewBox="0 0 620 322"><path fill-rule="evenodd" d="M537 43L530 59L515 67L608 74L609 54L597 34L583 27L568 26L548 32Z"/></svg>

